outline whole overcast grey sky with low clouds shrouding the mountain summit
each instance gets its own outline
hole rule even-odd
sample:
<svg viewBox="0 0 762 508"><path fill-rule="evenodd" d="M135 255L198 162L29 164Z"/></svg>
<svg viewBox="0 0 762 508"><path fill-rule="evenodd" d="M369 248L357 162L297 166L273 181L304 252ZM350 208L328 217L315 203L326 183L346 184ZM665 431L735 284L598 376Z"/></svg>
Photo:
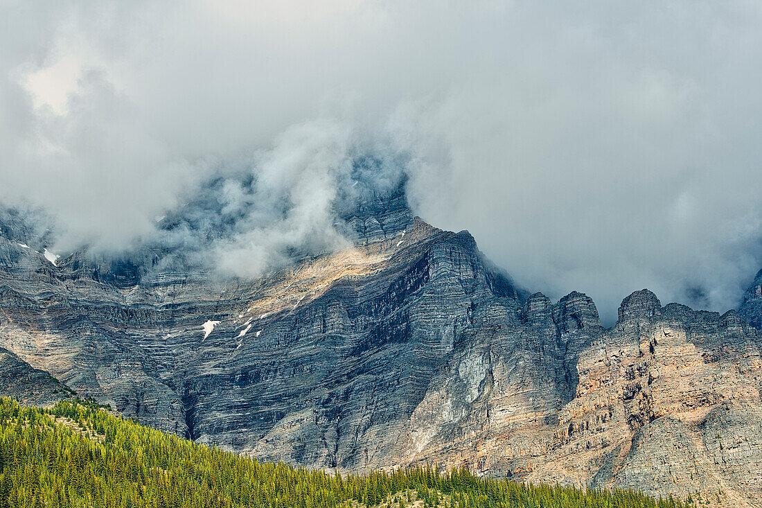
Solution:
<svg viewBox="0 0 762 508"><path fill-rule="evenodd" d="M243 165L293 204L228 246L259 270L280 233L341 243L374 146L531 290L724 311L762 268L760 27L732 0L0 0L0 201L121 249Z"/></svg>

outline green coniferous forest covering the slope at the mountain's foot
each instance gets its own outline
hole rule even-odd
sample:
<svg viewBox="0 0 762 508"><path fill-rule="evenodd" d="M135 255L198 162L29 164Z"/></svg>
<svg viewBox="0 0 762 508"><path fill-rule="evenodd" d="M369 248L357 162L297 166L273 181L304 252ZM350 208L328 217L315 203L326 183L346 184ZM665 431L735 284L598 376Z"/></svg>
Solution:
<svg viewBox="0 0 762 508"><path fill-rule="evenodd" d="M0 398L0 471L0 508L687 506L632 491L485 479L463 469L342 476L260 463L75 401L45 410Z"/></svg>

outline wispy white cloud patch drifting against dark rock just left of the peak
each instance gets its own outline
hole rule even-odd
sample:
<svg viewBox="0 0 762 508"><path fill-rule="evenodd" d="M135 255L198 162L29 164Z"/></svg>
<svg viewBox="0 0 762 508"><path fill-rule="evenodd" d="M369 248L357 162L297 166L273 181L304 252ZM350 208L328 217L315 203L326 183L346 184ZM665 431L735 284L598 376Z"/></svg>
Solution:
<svg viewBox="0 0 762 508"><path fill-rule="evenodd" d="M251 193L227 181L223 211L240 211L234 233L214 245L219 269L256 276L284 261L295 246L312 252L346 245L332 203L351 172L347 128L319 121L291 127L255 165Z"/></svg>

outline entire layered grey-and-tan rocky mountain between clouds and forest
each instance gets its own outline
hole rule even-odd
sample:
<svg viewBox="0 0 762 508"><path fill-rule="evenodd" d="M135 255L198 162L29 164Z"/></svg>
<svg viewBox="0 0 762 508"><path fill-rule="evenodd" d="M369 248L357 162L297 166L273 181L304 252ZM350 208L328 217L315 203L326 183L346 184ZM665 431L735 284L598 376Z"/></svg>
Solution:
<svg viewBox="0 0 762 508"><path fill-rule="evenodd" d="M762 339L738 313L643 290L604 329L589 297L516 288L399 192L344 219L354 247L256 281L53 265L42 240L0 238L0 346L125 416L258 458L759 506Z"/></svg>

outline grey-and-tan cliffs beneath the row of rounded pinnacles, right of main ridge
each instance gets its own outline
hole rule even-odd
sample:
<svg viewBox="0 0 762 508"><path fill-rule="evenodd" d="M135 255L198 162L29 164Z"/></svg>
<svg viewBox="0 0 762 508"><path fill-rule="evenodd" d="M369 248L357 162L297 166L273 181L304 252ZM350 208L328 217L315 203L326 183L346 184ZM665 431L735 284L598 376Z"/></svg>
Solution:
<svg viewBox="0 0 762 508"><path fill-rule="evenodd" d="M637 291L604 330L588 297L534 294L520 322L480 328L416 408L402 463L757 506L762 342L734 311Z"/></svg>

